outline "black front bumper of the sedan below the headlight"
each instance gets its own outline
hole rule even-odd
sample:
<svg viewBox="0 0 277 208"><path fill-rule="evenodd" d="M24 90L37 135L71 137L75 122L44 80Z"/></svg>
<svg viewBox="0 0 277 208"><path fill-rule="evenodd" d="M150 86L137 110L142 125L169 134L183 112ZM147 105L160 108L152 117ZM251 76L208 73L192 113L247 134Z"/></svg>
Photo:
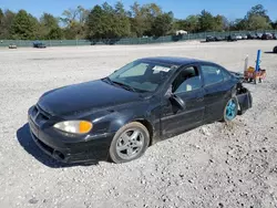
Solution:
<svg viewBox="0 0 277 208"><path fill-rule="evenodd" d="M114 134L84 136L83 139L66 137L51 128L40 129L29 116L31 136L38 147L52 158L65 163L106 160Z"/></svg>

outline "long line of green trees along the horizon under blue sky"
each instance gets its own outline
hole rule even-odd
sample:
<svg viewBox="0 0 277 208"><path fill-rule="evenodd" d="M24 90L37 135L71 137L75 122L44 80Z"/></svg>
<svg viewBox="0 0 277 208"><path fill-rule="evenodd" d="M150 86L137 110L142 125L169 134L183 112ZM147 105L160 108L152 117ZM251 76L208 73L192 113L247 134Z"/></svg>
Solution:
<svg viewBox="0 0 277 208"><path fill-rule="evenodd" d="M78 6L64 10L59 18L43 13L39 21L24 10L14 13L0 8L0 39L121 39L161 37L177 30L195 33L277 29L277 21L270 20L261 4L252 7L243 19L229 22L224 15L213 15L206 10L174 20L172 12L164 12L156 3L134 2L130 10L125 10L122 2L117 1L114 6L104 2L91 10Z"/></svg>

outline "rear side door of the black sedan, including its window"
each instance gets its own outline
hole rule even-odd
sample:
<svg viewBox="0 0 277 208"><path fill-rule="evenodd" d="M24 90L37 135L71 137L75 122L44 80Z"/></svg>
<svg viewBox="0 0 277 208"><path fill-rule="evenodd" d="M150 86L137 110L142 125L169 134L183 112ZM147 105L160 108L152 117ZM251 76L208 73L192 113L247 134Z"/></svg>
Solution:
<svg viewBox="0 0 277 208"><path fill-rule="evenodd" d="M201 72L204 80L204 122L218 121L223 116L230 85L226 83L224 70L218 65L202 64Z"/></svg>

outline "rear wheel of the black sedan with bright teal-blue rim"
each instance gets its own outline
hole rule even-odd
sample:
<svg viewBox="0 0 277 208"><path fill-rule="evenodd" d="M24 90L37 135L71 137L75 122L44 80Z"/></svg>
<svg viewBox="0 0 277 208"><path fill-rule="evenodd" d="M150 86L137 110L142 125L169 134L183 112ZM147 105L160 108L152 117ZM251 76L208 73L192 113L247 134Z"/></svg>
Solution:
<svg viewBox="0 0 277 208"><path fill-rule="evenodd" d="M223 112L223 122L232 122L238 113L238 101L236 97L228 100L227 104L224 107Z"/></svg>

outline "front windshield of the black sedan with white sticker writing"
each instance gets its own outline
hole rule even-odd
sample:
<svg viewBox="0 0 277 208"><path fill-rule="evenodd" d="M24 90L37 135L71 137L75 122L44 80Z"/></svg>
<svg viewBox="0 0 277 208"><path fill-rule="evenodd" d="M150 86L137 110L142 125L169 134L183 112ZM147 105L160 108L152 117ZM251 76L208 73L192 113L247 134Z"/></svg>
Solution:
<svg viewBox="0 0 277 208"><path fill-rule="evenodd" d="M155 92L173 73L176 66L144 61L134 61L115 71L109 79L122 86L141 92Z"/></svg>

